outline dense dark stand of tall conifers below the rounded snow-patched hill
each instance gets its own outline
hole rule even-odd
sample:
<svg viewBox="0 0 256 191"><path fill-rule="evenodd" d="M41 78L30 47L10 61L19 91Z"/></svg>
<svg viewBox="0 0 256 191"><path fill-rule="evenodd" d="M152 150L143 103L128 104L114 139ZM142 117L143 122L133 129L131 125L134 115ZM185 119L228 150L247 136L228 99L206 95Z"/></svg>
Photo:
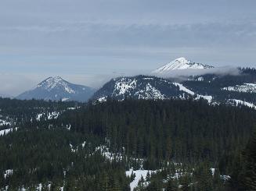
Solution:
<svg viewBox="0 0 256 191"><path fill-rule="evenodd" d="M243 147L256 113L245 107L209 106L202 100L126 100L88 104L59 120L75 132L106 137L114 151L124 147L126 154L156 165L161 160L218 160L224 150Z"/></svg>

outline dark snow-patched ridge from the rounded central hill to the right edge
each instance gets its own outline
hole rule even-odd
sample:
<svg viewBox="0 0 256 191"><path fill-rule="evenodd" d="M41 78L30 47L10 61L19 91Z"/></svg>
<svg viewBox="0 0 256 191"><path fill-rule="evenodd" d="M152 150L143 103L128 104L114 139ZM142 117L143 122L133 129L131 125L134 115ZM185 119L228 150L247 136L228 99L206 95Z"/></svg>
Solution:
<svg viewBox="0 0 256 191"><path fill-rule="evenodd" d="M107 97L123 101L134 99L203 98L210 104L247 105L256 108L256 70L240 69L240 75L205 74L187 80L164 79L157 76L120 77L96 91L92 101Z"/></svg>

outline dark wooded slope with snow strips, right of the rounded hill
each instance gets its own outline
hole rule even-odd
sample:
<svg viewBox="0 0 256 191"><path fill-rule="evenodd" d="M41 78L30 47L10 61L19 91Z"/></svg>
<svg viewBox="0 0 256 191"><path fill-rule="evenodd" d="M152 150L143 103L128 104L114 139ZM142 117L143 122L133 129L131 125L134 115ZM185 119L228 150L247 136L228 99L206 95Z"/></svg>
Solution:
<svg viewBox="0 0 256 191"><path fill-rule="evenodd" d="M230 99L248 101L256 104L256 69L239 69L239 74L206 74L193 76L182 84L197 94L207 94L214 101L225 103ZM199 80L198 80L199 79ZM253 87L250 90L251 86Z"/></svg>

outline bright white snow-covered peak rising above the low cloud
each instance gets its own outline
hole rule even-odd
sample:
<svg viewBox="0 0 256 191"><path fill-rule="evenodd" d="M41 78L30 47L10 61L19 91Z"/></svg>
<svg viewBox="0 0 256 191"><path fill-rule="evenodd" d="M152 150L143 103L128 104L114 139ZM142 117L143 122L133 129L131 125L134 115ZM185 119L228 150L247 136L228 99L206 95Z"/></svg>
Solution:
<svg viewBox="0 0 256 191"><path fill-rule="evenodd" d="M172 70L176 69L213 69L214 66L212 65L204 65L196 62L192 62L187 60L186 58L177 58L174 61L168 63L167 65L164 65L160 67L159 69L156 69L153 71L153 73L168 73Z"/></svg>

